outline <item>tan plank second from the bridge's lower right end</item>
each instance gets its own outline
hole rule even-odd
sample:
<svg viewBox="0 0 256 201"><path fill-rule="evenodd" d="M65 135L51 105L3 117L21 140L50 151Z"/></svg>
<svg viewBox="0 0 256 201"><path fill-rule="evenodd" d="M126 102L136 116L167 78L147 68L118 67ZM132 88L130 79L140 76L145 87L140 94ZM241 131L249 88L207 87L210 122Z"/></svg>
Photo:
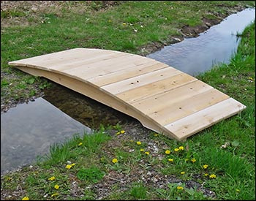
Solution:
<svg viewBox="0 0 256 201"><path fill-rule="evenodd" d="M159 124L166 125L228 98L229 96L214 88L196 96L191 96L181 102L174 104L166 102L162 110L153 111L147 115Z"/></svg>

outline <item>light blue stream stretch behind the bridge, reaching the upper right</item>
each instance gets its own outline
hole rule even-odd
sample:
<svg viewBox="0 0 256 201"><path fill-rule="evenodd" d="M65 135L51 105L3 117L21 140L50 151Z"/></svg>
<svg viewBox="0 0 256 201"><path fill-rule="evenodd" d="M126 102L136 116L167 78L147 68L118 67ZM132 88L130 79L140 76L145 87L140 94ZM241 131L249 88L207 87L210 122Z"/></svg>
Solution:
<svg viewBox="0 0 256 201"><path fill-rule="evenodd" d="M238 47L239 39L236 34L244 31L253 20L255 9L243 10L225 18L222 23L211 26L199 37L168 45L147 57L195 76L211 69L214 64L228 64Z"/></svg>

